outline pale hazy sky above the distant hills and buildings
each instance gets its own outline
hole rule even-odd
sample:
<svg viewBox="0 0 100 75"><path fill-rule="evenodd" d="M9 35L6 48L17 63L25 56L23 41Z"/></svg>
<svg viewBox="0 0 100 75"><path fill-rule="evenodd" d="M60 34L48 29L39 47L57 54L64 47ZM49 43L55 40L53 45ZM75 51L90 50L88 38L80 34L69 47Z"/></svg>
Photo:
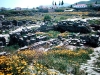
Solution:
<svg viewBox="0 0 100 75"><path fill-rule="evenodd" d="M40 5L51 5L52 1L56 1L58 4L59 1L62 0L0 0L0 7L6 8L15 8L15 7L22 7L22 8L32 8L37 7ZM73 4L79 1L89 1L89 0L63 0L64 3Z"/></svg>

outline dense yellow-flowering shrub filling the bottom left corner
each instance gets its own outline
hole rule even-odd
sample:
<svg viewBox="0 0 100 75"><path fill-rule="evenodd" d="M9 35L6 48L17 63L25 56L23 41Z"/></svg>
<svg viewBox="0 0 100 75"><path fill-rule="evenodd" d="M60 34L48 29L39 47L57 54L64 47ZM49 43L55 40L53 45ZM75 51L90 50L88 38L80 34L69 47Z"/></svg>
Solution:
<svg viewBox="0 0 100 75"><path fill-rule="evenodd" d="M21 75L27 62L20 56L0 56L0 75Z"/></svg>

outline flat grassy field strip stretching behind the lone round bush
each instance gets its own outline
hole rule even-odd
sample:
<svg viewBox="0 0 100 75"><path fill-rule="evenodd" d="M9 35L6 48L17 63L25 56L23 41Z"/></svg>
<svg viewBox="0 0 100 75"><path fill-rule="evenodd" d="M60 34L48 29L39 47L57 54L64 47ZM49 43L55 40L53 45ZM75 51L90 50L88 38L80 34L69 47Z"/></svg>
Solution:
<svg viewBox="0 0 100 75"><path fill-rule="evenodd" d="M8 20L14 20L14 19L15 20L33 20L33 21L42 20L43 21L45 15L50 15L51 19L60 21L63 19L73 17L73 14L86 14L86 13L85 12L84 13L81 13L81 12L78 12L78 13L77 12L53 12L53 13L41 13L42 15L34 14L34 16L11 16L11 17L6 17L6 19L8 19ZM72 15L72 16L68 16L68 15ZM56 16L56 17L54 18L54 16Z"/></svg>

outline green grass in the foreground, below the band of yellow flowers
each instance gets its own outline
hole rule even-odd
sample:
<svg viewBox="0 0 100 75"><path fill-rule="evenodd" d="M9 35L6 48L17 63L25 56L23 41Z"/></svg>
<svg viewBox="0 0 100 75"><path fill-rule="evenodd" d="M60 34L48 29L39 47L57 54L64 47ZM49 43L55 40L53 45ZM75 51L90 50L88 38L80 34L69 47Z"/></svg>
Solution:
<svg viewBox="0 0 100 75"><path fill-rule="evenodd" d="M93 52L91 49L86 49L86 51L88 52L88 54L83 53L79 57L69 56L64 53L60 54L60 52L52 52L49 54L48 51L48 54L44 55L44 57L42 57L42 59L39 59L38 62L48 68L54 68L63 74L67 74L68 68L73 68L74 75L79 75L80 65L82 63L85 63L86 60L89 59L89 54Z"/></svg>

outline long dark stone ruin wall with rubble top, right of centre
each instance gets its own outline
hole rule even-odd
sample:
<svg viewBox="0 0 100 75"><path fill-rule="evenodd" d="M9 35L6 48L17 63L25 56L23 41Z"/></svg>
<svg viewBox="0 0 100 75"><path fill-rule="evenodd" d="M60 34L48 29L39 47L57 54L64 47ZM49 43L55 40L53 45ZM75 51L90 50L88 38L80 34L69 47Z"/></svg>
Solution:
<svg viewBox="0 0 100 75"><path fill-rule="evenodd" d="M83 21L60 21L54 26L54 30L60 32L80 32L80 33L90 33L92 31L91 27L87 22Z"/></svg>

